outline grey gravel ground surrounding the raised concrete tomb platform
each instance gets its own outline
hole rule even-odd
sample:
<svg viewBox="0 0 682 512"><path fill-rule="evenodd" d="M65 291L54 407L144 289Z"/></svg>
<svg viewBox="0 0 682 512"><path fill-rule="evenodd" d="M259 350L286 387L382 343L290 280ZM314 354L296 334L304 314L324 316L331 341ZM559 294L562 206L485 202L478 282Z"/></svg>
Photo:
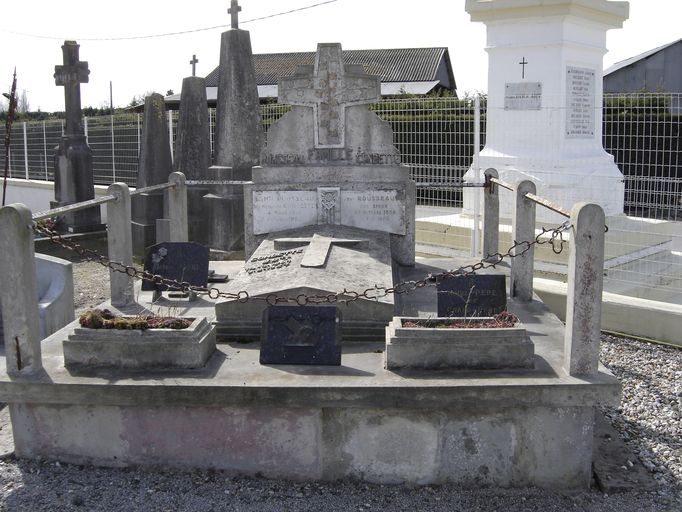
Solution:
<svg viewBox="0 0 682 512"><path fill-rule="evenodd" d="M79 311L108 295L108 272L74 264ZM539 489L301 484L220 471L108 469L0 461L0 511L682 511L682 350L604 335L602 361L623 383L618 408L604 412L654 474L650 493L606 495Z"/></svg>

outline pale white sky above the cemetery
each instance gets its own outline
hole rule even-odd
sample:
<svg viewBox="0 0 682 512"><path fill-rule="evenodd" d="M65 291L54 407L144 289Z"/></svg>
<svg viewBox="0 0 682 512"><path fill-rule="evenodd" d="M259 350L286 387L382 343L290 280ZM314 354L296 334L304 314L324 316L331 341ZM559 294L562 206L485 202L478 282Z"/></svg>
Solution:
<svg viewBox="0 0 682 512"><path fill-rule="evenodd" d="M8 3L8 0L6 0ZM317 43L344 49L441 47L449 49L458 94L485 92L485 25L472 23L465 0L240 0L240 28L254 53L314 51ZM228 29L229 0L22 0L3 5L0 22L0 90L26 91L31 110L64 110L54 66L62 63L66 39L80 44L89 83L82 106L107 107L112 83L115 107L149 92L180 92L191 75L218 65L220 34ZM321 4L309 9L306 7ZM256 20L293 11L266 19ZM630 18L607 33L604 67L682 38L682 0L630 0ZM8 19L11 23L8 23ZM253 21L250 21L253 20ZM216 28L210 28L216 27ZM208 30L199 30L208 29ZM155 36L185 32L164 37ZM138 37L122 40L120 38Z"/></svg>

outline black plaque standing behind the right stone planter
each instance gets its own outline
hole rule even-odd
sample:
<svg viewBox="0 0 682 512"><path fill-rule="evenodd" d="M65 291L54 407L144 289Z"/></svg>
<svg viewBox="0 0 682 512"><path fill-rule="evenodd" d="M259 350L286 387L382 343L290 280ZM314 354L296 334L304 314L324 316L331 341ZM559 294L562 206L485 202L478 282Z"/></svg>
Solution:
<svg viewBox="0 0 682 512"><path fill-rule="evenodd" d="M444 278L436 285L439 317L493 316L507 309L503 274Z"/></svg>

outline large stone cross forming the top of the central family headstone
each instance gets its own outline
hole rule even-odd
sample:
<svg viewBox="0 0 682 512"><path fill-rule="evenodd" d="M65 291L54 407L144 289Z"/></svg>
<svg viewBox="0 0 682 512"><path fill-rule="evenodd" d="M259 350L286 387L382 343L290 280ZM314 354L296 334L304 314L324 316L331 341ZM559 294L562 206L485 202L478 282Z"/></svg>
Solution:
<svg viewBox="0 0 682 512"><path fill-rule="evenodd" d="M280 103L313 108L316 148L345 147L346 107L380 98L380 78L347 71L338 43L318 45L312 74L279 81Z"/></svg>

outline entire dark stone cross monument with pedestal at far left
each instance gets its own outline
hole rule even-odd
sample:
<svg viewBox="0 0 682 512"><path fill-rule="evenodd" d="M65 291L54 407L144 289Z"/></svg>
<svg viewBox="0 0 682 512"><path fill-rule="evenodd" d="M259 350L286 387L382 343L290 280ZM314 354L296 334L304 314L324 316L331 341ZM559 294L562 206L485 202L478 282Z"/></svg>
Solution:
<svg viewBox="0 0 682 512"><path fill-rule="evenodd" d="M64 87L66 130L54 153L54 201L52 208L87 201L95 197L92 177L92 152L81 123L80 84L88 82L87 62L78 60L80 45L64 41L64 64L55 66L54 79ZM83 233L102 229L99 206L69 213L57 222L57 229L70 233Z"/></svg>

